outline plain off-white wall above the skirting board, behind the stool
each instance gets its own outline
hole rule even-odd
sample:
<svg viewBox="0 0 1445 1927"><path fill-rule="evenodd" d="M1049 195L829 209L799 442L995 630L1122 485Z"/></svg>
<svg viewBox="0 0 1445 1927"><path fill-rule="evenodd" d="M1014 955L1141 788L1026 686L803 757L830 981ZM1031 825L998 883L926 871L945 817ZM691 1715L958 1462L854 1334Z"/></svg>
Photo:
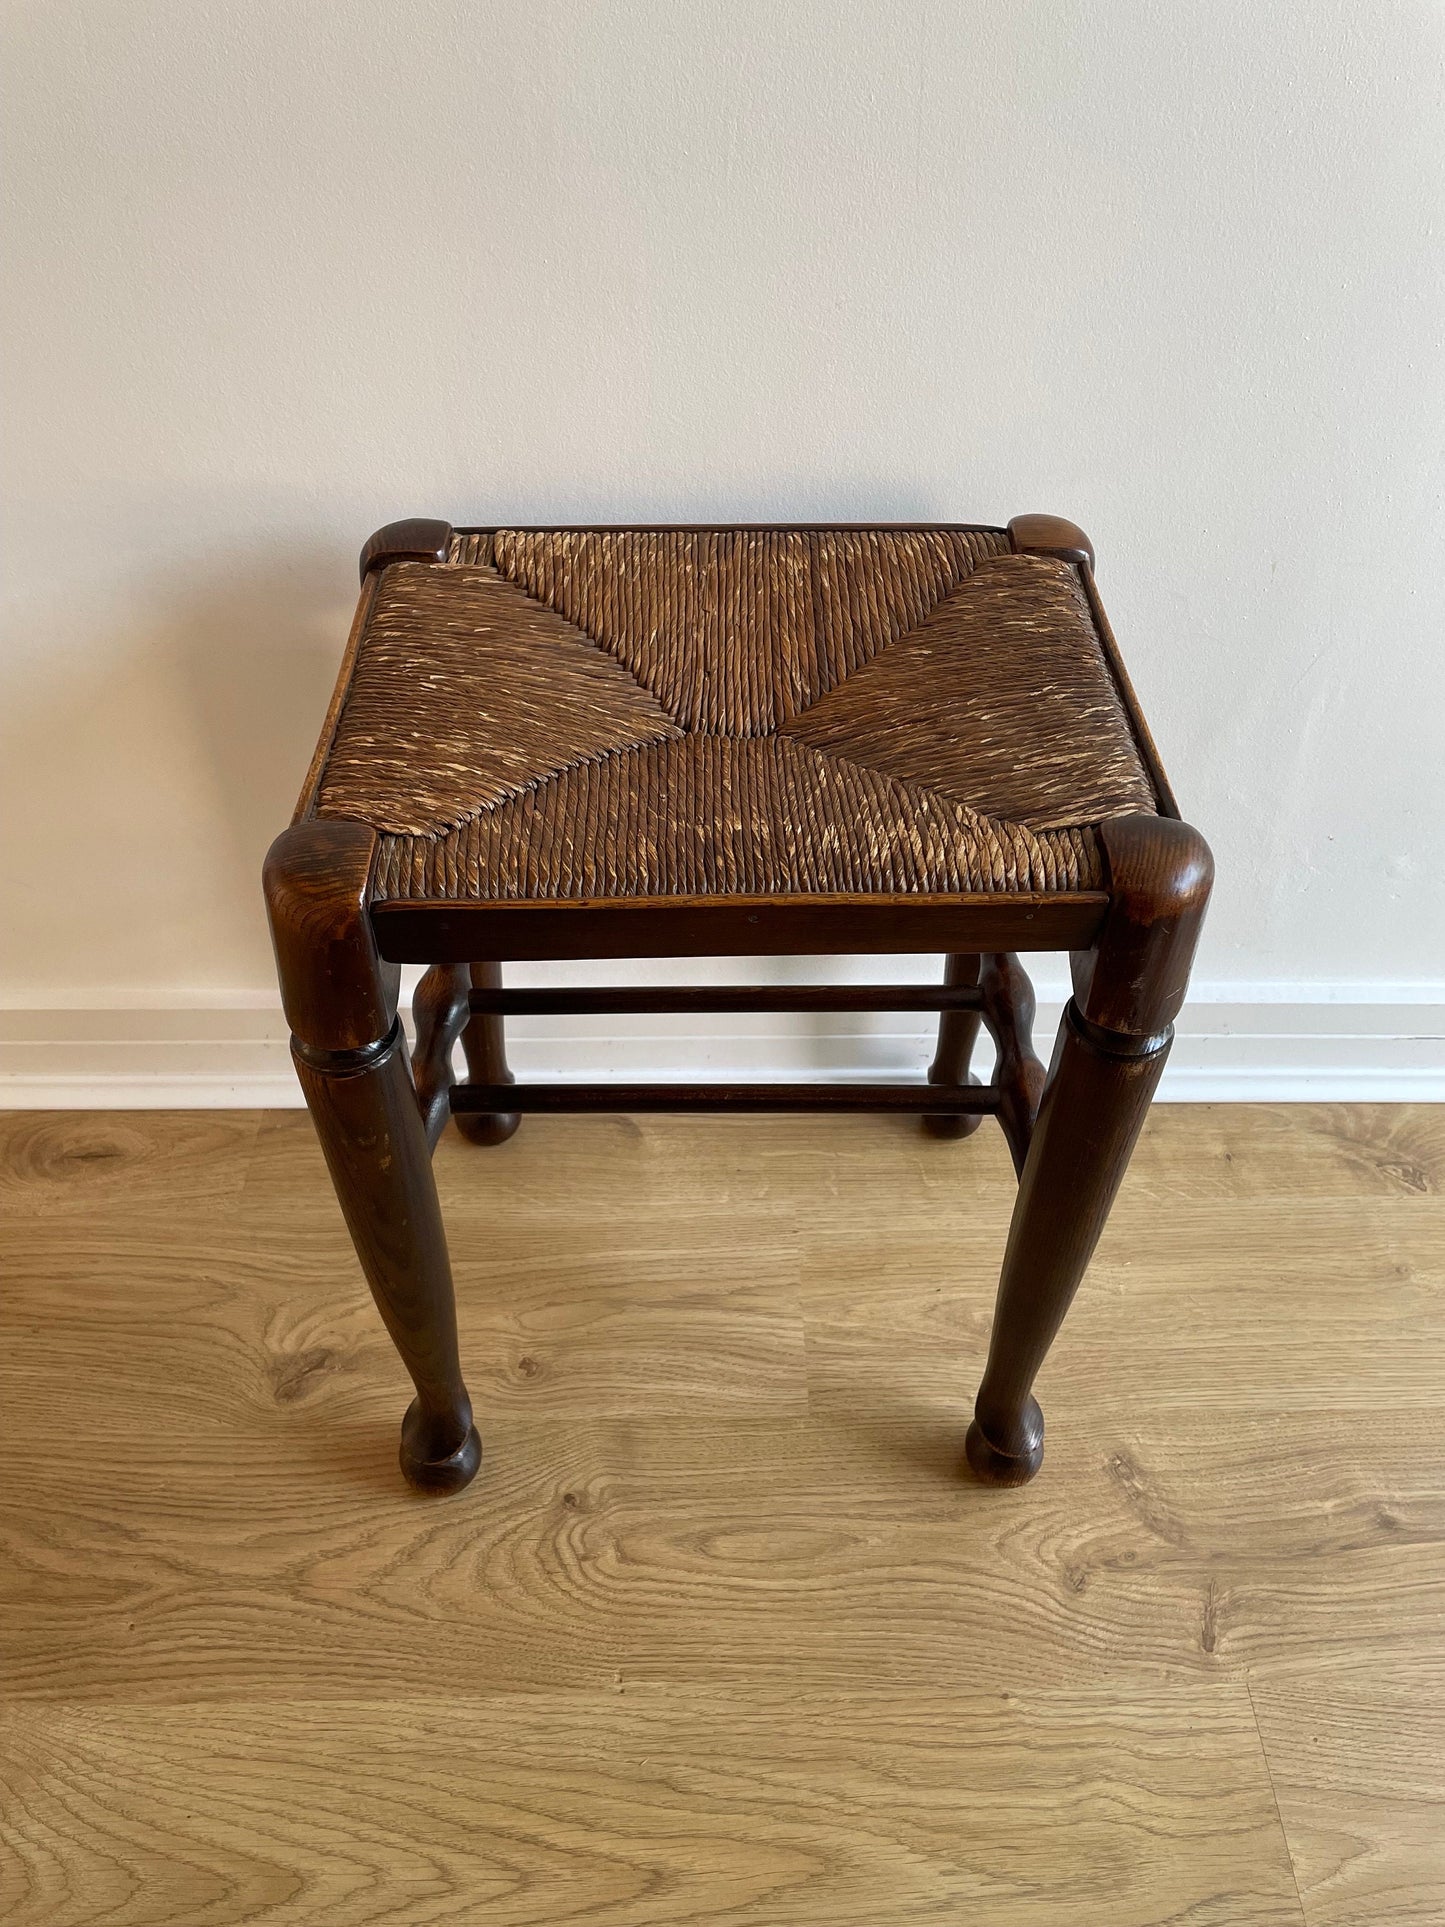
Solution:
<svg viewBox="0 0 1445 1927"><path fill-rule="evenodd" d="M260 854L405 513L1069 515L1216 848L1208 994L1445 994L1437 0L4 39L13 1035L270 1010Z"/></svg>

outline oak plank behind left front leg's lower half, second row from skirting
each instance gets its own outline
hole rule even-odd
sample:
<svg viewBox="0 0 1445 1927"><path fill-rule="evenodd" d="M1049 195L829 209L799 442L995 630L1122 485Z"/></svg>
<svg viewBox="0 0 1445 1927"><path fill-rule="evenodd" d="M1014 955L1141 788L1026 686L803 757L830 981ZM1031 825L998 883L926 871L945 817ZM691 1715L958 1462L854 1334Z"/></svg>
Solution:
<svg viewBox="0 0 1445 1927"><path fill-rule="evenodd" d="M0 1222L0 1264L23 1297L4 1360L0 1438L54 1399L64 1362L77 1430L123 1399L210 1424L333 1391L397 1399L405 1376L335 1206L308 1222L239 1206L164 1226L127 1214ZM805 1411L792 1224L753 1216L728 1235L686 1220L457 1241L459 1322L480 1405L526 1412L676 1416ZM77 1289L77 1280L89 1289ZM403 1401L405 1403L405 1401Z"/></svg>

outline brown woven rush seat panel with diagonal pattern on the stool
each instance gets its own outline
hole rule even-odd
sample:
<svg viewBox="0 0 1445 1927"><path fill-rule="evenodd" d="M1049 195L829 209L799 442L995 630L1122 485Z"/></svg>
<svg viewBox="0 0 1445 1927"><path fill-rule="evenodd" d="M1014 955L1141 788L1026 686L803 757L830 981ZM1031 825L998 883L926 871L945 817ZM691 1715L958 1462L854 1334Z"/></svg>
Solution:
<svg viewBox="0 0 1445 1927"><path fill-rule="evenodd" d="M374 900L1087 890L1154 790L1002 530L491 530L383 568L314 792Z"/></svg>

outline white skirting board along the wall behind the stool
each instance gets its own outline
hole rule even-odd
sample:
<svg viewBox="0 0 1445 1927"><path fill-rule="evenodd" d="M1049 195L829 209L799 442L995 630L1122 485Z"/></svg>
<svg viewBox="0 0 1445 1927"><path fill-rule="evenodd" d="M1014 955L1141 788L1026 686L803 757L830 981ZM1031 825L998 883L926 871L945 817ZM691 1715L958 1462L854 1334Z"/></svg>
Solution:
<svg viewBox="0 0 1445 1927"><path fill-rule="evenodd" d="M520 981L522 971L516 975ZM1281 994L1287 989L1200 987L1179 1021L1160 1096L1445 1102L1445 985L1389 985L1374 996L1360 985ZM1044 1058L1062 994L1062 985L1040 994L1035 1037ZM929 1019L911 1016L555 1017L509 1025L512 1069L528 1077L909 1077L927 1066L931 1039ZM0 1010L0 1108L299 1102L285 1023L264 994Z"/></svg>

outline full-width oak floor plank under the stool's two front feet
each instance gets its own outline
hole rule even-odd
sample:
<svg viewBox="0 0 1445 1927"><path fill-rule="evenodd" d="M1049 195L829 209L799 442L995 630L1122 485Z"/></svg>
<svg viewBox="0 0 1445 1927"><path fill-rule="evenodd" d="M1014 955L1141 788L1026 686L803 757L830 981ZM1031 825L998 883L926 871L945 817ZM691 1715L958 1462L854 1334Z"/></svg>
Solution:
<svg viewBox="0 0 1445 1927"><path fill-rule="evenodd" d="M185 1436L129 1412L62 1493L8 1451L0 1688L206 1700L549 1678L1019 1690L1445 1675L1445 1438L1397 1414L1110 1414L1025 1493L963 1476L961 1416L484 1414L466 1507L399 1490L395 1401ZM418 1634L422 1638L418 1640Z"/></svg>

